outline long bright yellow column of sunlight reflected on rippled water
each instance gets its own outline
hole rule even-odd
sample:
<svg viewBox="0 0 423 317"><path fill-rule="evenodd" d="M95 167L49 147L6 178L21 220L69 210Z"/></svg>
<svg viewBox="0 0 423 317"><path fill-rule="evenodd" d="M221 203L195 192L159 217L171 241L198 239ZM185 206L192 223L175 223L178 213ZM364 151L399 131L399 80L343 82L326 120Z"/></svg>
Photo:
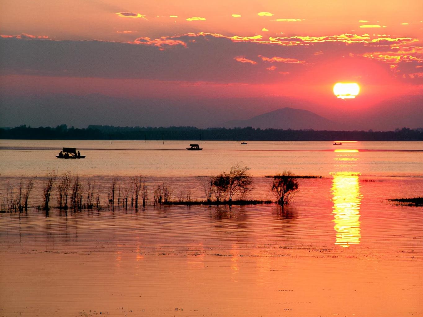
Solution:
<svg viewBox="0 0 423 317"><path fill-rule="evenodd" d="M360 244L360 173L336 172L331 173L333 211L336 230L335 244L349 247Z"/></svg>

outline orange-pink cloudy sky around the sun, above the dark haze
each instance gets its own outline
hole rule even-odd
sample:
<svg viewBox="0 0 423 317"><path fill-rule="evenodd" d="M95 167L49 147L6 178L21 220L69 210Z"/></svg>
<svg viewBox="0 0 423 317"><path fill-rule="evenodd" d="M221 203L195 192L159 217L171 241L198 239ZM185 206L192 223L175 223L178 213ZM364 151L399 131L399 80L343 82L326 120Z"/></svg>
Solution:
<svg viewBox="0 0 423 317"><path fill-rule="evenodd" d="M289 96L323 112L354 81L360 109L422 94L422 20L420 0L5 0L0 80L8 95Z"/></svg>

